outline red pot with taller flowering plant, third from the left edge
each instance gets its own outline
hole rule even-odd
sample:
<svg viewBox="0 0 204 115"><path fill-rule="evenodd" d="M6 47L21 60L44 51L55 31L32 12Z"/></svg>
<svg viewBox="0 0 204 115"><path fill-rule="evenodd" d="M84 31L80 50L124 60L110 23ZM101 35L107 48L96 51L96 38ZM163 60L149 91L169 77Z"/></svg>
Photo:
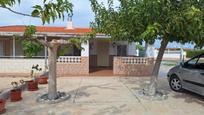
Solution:
<svg viewBox="0 0 204 115"><path fill-rule="evenodd" d="M38 90L38 81L36 79L36 75L35 75L35 70L36 71L41 71L42 69L39 68L39 65L37 64L36 66L32 66L31 69L31 78L33 78L30 81L27 81L27 85L28 85L28 91L36 91Z"/></svg>

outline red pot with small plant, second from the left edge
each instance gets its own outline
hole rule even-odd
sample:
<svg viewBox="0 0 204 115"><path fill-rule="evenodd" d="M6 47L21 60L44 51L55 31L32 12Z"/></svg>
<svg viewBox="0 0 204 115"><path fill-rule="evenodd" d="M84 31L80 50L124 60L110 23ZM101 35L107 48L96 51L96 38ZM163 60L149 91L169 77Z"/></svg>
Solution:
<svg viewBox="0 0 204 115"><path fill-rule="evenodd" d="M10 100L11 102L20 101L21 97L21 89L18 87L17 82L11 82L13 89L10 91Z"/></svg>

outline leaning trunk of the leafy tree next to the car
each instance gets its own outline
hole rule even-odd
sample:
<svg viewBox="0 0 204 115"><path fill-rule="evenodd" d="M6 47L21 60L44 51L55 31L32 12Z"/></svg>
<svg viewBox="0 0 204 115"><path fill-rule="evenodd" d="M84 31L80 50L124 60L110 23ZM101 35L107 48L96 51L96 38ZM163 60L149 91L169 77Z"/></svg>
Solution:
<svg viewBox="0 0 204 115"><path fill-rule="evenodd" d="M160 69L161 61L162 61L165 49L167 47L167 44L168 44L168 40L166 38L163 38L161 41L159 54L157 56L156 63L154 65L154 69L152 71L152 77L151 77L151 82L149 86L149 95L151 96L154 96L156 94L159 69Z"/></svg>

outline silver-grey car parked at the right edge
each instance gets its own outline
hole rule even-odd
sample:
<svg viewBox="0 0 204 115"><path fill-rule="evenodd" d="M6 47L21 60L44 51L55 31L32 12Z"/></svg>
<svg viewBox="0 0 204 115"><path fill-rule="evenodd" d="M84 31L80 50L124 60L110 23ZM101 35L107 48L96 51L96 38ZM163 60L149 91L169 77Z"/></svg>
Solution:
<svg viewBox="0 0 204 115"><path fill-rule="evenodd" d="M167 76L172 90L186 89L204 96L204 53L173 67Z"/></svg>

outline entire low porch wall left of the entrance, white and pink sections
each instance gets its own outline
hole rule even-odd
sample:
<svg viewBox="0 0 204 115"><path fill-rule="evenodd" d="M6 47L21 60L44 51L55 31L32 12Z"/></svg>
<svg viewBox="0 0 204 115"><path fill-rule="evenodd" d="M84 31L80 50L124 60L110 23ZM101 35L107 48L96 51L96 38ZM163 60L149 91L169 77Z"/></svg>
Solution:
<svg viewBox="0 0 204 115"><path fill-rule="evenodd" d="M33 65L38 64L42 70L45 59L0 58L0 76L29 77ZM40 71L36 73L42 73ZM88 75L89 58L81 56L60 56L57 60L57 75Z"/></svg>

